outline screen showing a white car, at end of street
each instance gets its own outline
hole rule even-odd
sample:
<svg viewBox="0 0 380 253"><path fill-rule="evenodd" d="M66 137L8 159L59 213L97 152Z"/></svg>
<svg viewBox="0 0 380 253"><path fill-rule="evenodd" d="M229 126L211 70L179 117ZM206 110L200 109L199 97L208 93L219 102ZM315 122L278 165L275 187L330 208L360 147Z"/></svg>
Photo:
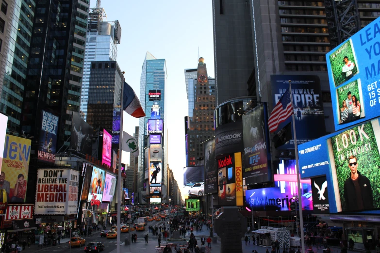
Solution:
<svg viewBox="0 0 380 253"><path fill-rule="evenodd" d="M185 194L204 195L204 167L183 167L183 188Z"/></svg>

